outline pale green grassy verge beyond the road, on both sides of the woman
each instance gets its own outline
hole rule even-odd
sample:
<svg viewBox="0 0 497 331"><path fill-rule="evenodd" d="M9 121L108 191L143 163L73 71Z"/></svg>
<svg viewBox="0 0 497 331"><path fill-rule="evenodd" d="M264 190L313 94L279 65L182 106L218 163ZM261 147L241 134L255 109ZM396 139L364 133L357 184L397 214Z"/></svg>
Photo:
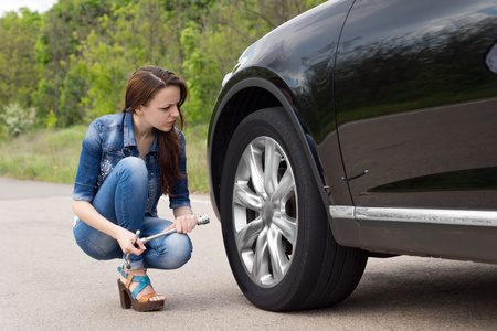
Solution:
<svg viewBox="0 0 497 331"><path fill-rule="evenodd" d="M72 184L86 128L76 126L53 132L40 130L1 141L0 174ZM184 129L188 179L192 192L209 191L205 160L207 130L207 125L189 126Z"/></svg>

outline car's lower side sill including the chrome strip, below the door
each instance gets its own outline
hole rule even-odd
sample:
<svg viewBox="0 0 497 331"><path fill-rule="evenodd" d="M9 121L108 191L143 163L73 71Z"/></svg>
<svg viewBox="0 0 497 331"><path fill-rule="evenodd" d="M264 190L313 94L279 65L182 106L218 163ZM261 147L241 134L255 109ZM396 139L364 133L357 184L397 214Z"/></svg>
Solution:
<svg viewBox="0 0 497 331"><path fill-rule="evenodd" d="M497 211L329 207L335 239L394 255L497 263Z"/></svg>

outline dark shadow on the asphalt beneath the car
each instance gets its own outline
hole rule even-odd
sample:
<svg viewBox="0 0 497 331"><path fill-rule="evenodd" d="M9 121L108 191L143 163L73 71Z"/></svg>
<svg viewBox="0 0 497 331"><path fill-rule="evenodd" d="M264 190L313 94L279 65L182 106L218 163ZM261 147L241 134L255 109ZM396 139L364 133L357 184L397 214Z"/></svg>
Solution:
<svg viewBox="0 0 497 331"><path fill-rule="evenodd" d="M444 321L447 327L457 328L474 328L478 321L480 328L482 322L488 321L490 328L497 318L496 289L497 265L417 257L370 259L359 286L347 300L299 313L356 314L371 321L398 316L417 319L421 329Z"/></svg>

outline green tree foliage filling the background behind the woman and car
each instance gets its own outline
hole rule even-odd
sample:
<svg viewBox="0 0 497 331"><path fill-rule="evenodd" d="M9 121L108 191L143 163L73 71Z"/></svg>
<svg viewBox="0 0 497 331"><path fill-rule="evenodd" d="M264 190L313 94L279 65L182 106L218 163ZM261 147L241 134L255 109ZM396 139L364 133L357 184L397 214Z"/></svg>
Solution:
<svg viewBox="0 0 497 331"><path fill-rule="evenodd" d="M186 116L207 121L243 50L321 2L59 0L42 14L8 12L0 18L0 102L35 109L39 126L87 122L120 111L129 75L152 64L187 81Z"/></svg>

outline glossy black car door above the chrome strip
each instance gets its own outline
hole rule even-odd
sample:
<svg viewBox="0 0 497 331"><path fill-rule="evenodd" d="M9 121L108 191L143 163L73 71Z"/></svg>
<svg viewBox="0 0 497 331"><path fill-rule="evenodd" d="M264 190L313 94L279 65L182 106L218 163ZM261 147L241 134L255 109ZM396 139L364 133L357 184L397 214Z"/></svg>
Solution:
<svg viewBox="0 0 497 331"><path fill-rule="evenodd" d="M496 41L497 1L356 1L335 76L356 206L497 209Z"/></svg>

